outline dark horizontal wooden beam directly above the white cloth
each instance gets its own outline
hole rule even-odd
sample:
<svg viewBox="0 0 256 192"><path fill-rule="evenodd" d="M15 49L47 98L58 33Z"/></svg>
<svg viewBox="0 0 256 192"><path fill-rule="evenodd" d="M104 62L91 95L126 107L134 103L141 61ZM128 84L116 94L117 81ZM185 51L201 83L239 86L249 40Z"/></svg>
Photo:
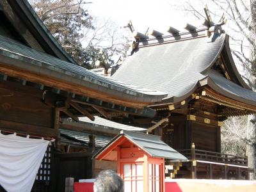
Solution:
<svg viewBox="0 0 256 192"><path fill-rule="evenodd" d="M51 136L56 138L56 129L52 129L51 127L41 127L0 120L0 129L3 131L17 131L35 136Z"/></svg>

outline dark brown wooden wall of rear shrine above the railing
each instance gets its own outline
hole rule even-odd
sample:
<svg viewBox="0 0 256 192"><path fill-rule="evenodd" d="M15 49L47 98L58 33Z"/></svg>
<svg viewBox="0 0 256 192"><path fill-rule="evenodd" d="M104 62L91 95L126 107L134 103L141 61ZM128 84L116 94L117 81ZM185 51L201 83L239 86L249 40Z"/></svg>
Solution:
<svg viewBox="0 0 256 192"><path fill-rule="evenodd" d="M189 149L195 143L196 149L220 152L220 127L172 116L163 129L163 141L175 149Z"/></svg>

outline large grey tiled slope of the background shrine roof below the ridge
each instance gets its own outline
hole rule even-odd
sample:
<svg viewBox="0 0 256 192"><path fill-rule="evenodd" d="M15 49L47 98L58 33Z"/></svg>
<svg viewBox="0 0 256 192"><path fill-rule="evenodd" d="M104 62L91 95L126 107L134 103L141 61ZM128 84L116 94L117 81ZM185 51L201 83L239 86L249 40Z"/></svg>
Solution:
<svg viewBox="0 0 256 192"><path fill-rule="evenodd" d="M201 73L216 60L224 40L221 35L215 42L201 37L138 48L111 78L182 97L205 77Z"/></svg>

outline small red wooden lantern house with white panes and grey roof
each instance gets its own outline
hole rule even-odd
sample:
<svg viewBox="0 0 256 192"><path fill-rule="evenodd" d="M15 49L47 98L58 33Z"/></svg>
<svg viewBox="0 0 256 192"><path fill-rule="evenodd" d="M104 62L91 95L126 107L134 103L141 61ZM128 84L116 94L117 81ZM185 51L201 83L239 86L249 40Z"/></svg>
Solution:
<svg viewBox="0 0 256 192"><path fill-rule="evenodd" d="M163 153L165 150L166 153ZM124 180L125 192L163 192L164 155L186 159L163 143L159 136L122 131L95 156L98 160L116 161L117 173Z"/></svg>

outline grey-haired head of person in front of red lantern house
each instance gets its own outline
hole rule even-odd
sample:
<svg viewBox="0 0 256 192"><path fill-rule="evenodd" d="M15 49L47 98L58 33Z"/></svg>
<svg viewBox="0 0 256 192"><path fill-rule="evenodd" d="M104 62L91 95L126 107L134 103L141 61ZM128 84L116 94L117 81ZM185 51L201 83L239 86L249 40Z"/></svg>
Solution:
<svg viewBox="0 0 256 192"><path fill-rule="evenodd" d="M123 180L114 171L104 170L96 178L93 190L94 192L123 192Z"/></svg>

